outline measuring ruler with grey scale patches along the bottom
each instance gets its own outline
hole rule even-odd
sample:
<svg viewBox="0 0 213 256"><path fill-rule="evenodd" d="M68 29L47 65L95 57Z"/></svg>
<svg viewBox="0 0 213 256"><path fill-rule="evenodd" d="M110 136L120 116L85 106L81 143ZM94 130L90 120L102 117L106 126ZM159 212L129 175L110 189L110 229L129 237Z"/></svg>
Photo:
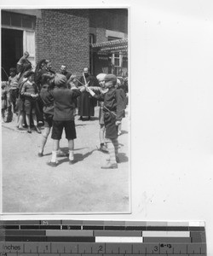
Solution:
<svg viewBox="0 0 213 256"><path fill-rule="evenodd" d="M0 221L0 256L206 255L203 222Z"/></svg>

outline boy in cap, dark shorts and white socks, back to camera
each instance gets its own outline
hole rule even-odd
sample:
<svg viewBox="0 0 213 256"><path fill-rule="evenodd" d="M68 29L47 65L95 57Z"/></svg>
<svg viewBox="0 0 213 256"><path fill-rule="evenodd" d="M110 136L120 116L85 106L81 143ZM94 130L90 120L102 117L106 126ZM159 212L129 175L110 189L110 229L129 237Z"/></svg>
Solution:
<svg viewBox="0 0 213 256"><path fill-rule="evenodd" d="M58 164L56 154L59 149L59 142L64 128L69 148L69 164L72 165L75 163L73 150L76 129L73 114L73 100L81 94L81 90L78 90L78 88L74 86L72 87L72 90L68 89L66 85L66 76L62 74L57 73L54 82L56 87L51 92L55 101L52 130L52 139L54 141L52 159L48 163L49 166L53 167Z"/></svg>

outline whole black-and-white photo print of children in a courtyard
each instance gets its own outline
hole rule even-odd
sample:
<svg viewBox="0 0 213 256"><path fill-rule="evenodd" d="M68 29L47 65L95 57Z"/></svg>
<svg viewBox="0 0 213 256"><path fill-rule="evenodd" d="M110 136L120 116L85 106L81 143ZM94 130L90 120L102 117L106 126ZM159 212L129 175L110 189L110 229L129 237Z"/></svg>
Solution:
<svg viewBox="0 0 213 256"><path fill-rule="evenodd" d="M129 11L1 9L3 214L130 213Z"/></svg>

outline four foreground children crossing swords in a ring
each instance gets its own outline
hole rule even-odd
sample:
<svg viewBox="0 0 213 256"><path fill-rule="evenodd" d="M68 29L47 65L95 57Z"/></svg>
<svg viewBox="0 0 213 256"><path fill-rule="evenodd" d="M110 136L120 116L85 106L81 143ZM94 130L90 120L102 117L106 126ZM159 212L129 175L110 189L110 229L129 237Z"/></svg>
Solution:
<svg viewBox="0 0 213 256"><path fill-rule="evenodd" d="M81 92L87 90L91 96L103 102L99 115L101 149L109 153L110 158L107 160L106 166L101 166L101 168L118 168L118 125L124 117L126 98L124 91L116 88L116 76L100 74L97 77L101 85L100 87L89 87L88 84L77 87L74 76L71 76L68 80L66 76L58 73L54 76L47 74L43 76L45 83L43 84L40 96L44 106L44 131L38 156L43 156L43 149L52 127L51 138L53 139L53 148L48 165L57 166L57 156L63 155L63 152L60 150L60 139L63 130L65 130L68 142L69 164L73 165L76 162L74 159L74 139L77 138L77 134L74 120L75 105L73 102L80 96Z"/></svg>

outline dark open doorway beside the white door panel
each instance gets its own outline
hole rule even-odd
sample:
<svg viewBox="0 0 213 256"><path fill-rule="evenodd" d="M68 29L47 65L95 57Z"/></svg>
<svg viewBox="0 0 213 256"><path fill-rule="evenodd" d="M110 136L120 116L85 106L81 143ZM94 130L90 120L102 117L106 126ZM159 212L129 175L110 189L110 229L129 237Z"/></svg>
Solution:
<svg viewBox="0 0 213 256"><path fill-rule="evenodd" d="M2 28L2 81L7 81L9 68L23 55L23 31ZM5 73L6 72L6 73Z"/></svg>

